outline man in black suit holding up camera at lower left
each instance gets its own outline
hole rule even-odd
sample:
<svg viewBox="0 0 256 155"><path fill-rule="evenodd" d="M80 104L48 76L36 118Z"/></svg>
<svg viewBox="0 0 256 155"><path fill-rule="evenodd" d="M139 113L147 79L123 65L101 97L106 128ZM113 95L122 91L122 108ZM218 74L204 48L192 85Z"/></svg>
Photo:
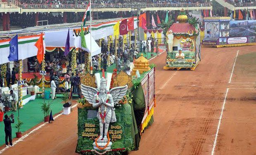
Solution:
<svg viewBox="0 0 256 155"><path fill-rule="evenodd" d="M12 120L10 119L10 117L12 118ZM8 147L8 137L9 137L10 147L12 147L12 125L11 125L11 123L14 123L14 115L13 114L11 114L10 116L5 115L4 123L5 123L5 145L6 145L6 147Z"/></svg>

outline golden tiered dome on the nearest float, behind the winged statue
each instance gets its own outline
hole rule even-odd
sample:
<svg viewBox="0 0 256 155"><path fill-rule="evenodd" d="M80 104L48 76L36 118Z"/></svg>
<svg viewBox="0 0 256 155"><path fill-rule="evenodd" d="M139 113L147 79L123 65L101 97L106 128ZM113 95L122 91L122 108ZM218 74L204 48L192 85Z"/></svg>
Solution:
<svg viewBox="0 0 256 155"><path fill-rule="evenodd" d="M135 60L132 75L136 75L137 70L139 70L140 74L150 70L149 61L143 56L143 54L140 54L140 57Z"/></svg>

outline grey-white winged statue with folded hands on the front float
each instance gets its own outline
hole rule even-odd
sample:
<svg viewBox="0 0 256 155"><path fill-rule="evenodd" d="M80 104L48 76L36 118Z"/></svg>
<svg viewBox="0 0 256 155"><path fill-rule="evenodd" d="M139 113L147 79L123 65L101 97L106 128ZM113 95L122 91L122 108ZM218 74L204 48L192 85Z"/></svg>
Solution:
<svg viewBox="0 0 256 155"><path fill-rule="evenodd" d="M126 95L128 86L115 87L108 92L106 79L102 77L98 89L99 91L95 88L81 85L81 91L85 99L92 104L93 108L98 107L97 118L100 121L98 143L103 143L103 141L105 143L108 140L109 123L116 122L114 103L118 103Z"/></svg>

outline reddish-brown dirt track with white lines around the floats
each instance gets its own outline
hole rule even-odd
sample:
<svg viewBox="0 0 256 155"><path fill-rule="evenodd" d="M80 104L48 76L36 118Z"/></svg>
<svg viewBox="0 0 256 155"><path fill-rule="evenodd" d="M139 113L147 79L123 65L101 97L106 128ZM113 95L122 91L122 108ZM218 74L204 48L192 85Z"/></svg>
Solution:
<svg viewBox="0 0 256 155"><path fill-rule="evenodd" d="M165 56L151 61L156 64L154 123L142 134L139 150L130 154L256 154L256 46L203 47L194 71L163 70ZM3 154L72 155L76 139L74 108Z"/></svg>

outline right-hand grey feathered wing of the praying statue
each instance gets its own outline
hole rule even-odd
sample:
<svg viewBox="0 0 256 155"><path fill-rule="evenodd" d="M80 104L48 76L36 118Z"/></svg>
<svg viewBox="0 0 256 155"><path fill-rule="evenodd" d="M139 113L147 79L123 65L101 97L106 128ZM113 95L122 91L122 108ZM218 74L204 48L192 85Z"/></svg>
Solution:
<svg viewBox="0 0 256 155"><path fill-rule="evenodd" d="M111 94L113 97L114 103L118 103L123 98L123 96L126 95L127 89L128 86L125 85L123 87L114 87L109 91L109 94Z"/></svg>

